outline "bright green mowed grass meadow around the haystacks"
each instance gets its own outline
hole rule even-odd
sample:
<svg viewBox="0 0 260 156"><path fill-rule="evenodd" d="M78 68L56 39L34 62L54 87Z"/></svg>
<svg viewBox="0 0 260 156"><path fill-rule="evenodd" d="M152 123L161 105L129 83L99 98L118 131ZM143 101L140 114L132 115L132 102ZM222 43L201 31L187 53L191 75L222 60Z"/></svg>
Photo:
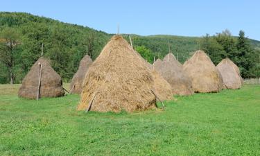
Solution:
<svg viewBox="0 0 260 156"><path fill-rule="evenodd" d="M260 85L117 114L77 112L78 95L18 98L16 86L0 85L0 155L260 155Z"/></svg>

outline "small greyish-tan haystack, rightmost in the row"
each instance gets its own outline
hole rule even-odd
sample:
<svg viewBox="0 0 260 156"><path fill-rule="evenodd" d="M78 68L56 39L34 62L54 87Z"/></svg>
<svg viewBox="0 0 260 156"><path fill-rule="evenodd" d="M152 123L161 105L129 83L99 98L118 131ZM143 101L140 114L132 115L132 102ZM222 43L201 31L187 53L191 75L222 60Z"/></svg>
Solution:
<svg viewBox="0 0 260 156"><path fill-rule="evenodd" d="M217 65L217 69L223 78L223 88L225 89L239 89L241 88L243 80L239 74L239 67L229 60L229 58L223 59Z"/></svg>

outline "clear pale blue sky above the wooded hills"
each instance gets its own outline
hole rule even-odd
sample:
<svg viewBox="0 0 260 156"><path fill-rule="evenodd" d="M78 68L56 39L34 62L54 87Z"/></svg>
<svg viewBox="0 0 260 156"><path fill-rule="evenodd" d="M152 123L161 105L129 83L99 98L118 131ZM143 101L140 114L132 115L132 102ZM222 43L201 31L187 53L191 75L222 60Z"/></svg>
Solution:
<svg viewBox="0 0 260 156"><path fill-rule="evenodd" d="M29 12L107 33L213 35L226 28L260 40L259 0L12 0L0 11Z"/></svg>

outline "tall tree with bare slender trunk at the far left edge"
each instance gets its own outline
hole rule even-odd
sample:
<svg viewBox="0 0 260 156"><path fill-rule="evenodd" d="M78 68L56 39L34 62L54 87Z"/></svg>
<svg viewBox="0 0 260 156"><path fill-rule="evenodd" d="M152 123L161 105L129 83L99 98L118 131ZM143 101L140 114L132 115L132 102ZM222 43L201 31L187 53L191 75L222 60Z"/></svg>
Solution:
<svg viewBox="0 0 260 156"><path fill-rule="evenodd" d="M19 32L15 28L3 28L0 33L0 61L8 68L10 84L15 81L13 67L15 66L15 52L20 44L19 37Z"/></svg>

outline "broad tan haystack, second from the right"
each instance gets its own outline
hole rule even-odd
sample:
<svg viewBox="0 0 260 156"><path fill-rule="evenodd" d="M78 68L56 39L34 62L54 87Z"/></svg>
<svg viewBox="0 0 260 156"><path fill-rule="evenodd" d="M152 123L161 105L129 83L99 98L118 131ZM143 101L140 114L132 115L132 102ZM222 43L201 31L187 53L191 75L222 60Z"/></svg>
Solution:
<svg viewBox="0 0 260 156"><path fill-rule="evenodd" d="M219 92L223 89L223 79L204 51L196 51L183 67L191 78L194 92Z"/></svg>

